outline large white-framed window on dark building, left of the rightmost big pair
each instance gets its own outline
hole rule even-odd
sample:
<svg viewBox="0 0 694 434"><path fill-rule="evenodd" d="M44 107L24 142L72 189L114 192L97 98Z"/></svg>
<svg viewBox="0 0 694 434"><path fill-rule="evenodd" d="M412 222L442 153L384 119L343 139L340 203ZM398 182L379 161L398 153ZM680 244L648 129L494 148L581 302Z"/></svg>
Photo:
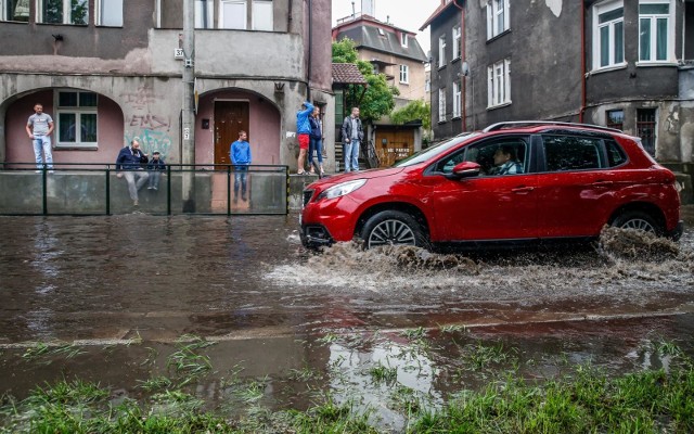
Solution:
<svg viewBox="0 0 694 434"><path fill-rule="evenodd" d="M593 17L594 68L625 64L625 9L621 1L595 7Z"/></svg>

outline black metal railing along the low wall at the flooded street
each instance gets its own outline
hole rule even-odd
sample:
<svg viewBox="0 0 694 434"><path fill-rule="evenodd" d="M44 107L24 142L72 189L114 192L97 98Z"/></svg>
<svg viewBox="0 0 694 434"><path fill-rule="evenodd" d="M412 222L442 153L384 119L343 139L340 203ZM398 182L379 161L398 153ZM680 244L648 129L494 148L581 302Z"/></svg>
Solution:
<svg viewBox="0 0 694 434"><path fill-rule="evenodd" d="M41 169L36 163L0 163L0 215L288 214L288 166L244 167L166 164L158 189L149 186L154 170L143 168L147 176L138 178L147 179L138 186L136 204L113 163L53 163Z"/></svg>

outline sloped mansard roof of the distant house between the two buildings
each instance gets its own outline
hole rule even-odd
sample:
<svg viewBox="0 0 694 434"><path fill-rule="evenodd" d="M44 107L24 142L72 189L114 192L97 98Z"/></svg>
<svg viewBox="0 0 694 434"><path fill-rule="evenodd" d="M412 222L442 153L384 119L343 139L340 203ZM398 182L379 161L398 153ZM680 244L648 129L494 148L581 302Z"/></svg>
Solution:
<svg viewBox="0 0 694 434"><path fill-rule="evenodd" d="M407 35L407 47L400 43L400 35ZM412 31L380 22L368 15L333 28L335 40L349 38L357 49L368 48L415 62L426 62L427 58Z"/></svg>

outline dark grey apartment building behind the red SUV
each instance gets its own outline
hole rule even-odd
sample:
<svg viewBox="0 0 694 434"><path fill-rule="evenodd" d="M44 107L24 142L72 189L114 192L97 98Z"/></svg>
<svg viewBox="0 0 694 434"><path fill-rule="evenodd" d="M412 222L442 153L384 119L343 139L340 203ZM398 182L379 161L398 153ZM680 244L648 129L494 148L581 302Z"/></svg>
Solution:
<svg viewBox="0 0 694 434"><path fill-rule="evenodd" d="M441 0L422 27L434 135L581 122L639 136L660 161L692 162L693 10L689 0Z"/></svg>

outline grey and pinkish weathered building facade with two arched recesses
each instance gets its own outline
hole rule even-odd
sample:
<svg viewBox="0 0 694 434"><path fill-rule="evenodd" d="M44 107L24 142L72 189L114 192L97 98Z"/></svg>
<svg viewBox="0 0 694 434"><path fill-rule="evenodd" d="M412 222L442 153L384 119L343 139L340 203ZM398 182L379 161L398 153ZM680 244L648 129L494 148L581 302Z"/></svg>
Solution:
<svg viewBox="0 0 694 434"><path fill-rule="evenodd" d="M195 0L194 53L183 50L183 0L0 4L2 163L34 161L24 127L37 102L55 122L59 164L114 162L136 137L181 163L187 62L195 164L228 164L244 129L254 164L295 169L301 102L310 95L333 116L327 0Z"/></svg>

